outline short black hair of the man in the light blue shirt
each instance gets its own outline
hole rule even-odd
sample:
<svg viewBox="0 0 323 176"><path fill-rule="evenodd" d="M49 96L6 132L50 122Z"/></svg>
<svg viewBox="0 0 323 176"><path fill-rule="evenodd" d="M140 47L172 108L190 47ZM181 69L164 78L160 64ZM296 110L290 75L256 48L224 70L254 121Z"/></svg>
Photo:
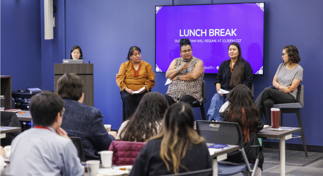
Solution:
<svg viewBox="0 0 323 176"><path fill-rule="evenodd" d="M63 106L63 99L56 93L43 92L32 96L29 110L34 125L51 126L55 122L58 112L62 112Z"/></svg>

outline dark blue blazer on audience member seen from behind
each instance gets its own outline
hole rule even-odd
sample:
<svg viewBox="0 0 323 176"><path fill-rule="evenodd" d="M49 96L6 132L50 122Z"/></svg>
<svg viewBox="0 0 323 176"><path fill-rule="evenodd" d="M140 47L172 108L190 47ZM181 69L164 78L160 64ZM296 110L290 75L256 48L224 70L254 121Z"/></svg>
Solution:
<svg viewBox="0 0 323 176"><path fill-rule="evenodd" d="M114 140L104 128L100 110L75 100L63 100L65 113L61 127L69 137L81 139L86 161L100 160L98 152L108 150Z"/></svg>

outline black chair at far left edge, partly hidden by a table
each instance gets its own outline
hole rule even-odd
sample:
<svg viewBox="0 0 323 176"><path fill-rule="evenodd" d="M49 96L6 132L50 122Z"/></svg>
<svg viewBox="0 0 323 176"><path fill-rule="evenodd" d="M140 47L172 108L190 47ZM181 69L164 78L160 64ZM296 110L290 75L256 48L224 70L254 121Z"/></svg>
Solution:
<svg viewBox="0 0 323 176"><path fill-rule="evenodd" d="M1 126L19 127L21 128L19 119L15 112L1 111ZM1 139L1 146L11 145L12 140L21 133L21 129L16 132L8 132L5 138Z"/></svg>

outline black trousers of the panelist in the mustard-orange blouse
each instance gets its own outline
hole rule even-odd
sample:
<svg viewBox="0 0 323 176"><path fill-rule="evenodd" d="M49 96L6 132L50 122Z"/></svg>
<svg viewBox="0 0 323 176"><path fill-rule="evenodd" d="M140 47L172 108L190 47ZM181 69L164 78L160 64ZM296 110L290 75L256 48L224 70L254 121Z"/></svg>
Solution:
<svg viewBox="0 0 323 176"><path fill-rule="evenodd" d="M144 91L143 93L136 93L130 95L128 92L120 92L122 100L122 122L127 120L137 109L141 98L148 93Z"/></svg>

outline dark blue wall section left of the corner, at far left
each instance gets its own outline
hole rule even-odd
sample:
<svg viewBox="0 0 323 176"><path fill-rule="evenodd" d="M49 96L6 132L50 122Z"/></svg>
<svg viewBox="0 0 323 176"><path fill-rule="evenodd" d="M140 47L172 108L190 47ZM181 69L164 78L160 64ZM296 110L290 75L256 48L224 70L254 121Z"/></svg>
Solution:
<svg viewBox="0 0 323 176"><path fill-rule="evenodd" d="M42 86L39 1L0 3L1 75L12 76L12 90Z"/></svg>

